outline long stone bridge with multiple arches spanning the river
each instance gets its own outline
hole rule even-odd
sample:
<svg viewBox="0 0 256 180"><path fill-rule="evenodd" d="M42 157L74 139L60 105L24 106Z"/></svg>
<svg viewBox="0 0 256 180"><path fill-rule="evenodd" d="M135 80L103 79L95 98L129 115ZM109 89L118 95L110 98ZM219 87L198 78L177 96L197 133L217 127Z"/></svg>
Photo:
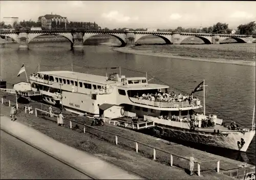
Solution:
<svg viewBox="0 0 256 180"><path fill-rule="evenodd" d="M167 44L180 44L188 37L198 37L206 44L218 44L224 39L233 38L241 43L252 43L254 36L233 34L205 34L205 33L179 33L179 32L148 32L148 31L83 31L83 30L49 30L49 31L2 31L1 36L12 38L19 44L19 48L28 48L29 42L40 35L61 35L71 42L71 48L83 48L83 42L88 38L108 34L116 37L122 43L121 46L133 46L140 38L155 35L162 38Z"/></svg>

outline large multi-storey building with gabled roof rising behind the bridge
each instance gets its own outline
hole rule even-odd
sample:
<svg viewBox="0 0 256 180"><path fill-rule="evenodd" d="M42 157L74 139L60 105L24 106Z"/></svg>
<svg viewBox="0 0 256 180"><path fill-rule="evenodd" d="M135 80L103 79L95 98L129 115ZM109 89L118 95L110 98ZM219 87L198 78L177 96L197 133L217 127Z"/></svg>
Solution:
<svg viewBox="0 0 256 180"><path fill-rule="evenodd" d="M56 26L67 26L68 19L67 17L62 17L57 14L46 14L44 16L39 16L38 21L41 22L43 28L52 29L53 24Z"/></svg>

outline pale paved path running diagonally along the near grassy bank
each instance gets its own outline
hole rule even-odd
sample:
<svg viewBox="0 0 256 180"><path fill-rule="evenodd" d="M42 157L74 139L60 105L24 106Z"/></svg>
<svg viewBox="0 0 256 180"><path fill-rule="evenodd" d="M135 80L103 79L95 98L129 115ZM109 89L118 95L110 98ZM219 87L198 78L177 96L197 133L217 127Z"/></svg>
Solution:
<svg viewBox="0 0 256 180"><path fill-rule="evenodd" d="M143 179L1 115L1 129L94 179Z"/></svg>

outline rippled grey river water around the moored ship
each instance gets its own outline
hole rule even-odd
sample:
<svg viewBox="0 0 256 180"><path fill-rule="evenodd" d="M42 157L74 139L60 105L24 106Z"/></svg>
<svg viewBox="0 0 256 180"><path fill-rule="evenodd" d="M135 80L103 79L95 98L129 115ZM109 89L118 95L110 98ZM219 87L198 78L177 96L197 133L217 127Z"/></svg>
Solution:
<svg viewBox="0 0 256 180"><path fill-rule="evenodd" d="M236 121L240 126L251 127L253 105L255 104L255 67L234 64L190 61L172 58L151 57L125 54L111 50L111 47L85 46L83 50L70 50L69 42L30 43L29 50L18 50L17 44L5 44L1 50L1 79L7 80L7 85L25 81L25 73L17 77L22 64L25 64L28 76L38 70L68 70L97 75L106 75L105 67L127 68L121 69L121 74L136 77L152 75L152 83L160 83L158 79L191 93L193 89L205 79L206 114L217 114L224 122ZM86 68L86 66L99 69ZM108 74L119 70L108 70ZM158 78L158 79L157 79ZM203 93L195 96L203 99ZM227 123L226 123L227 124ZM227 158L255 164L255 137L246 153L230 152L205 147L196 147Z"/></svg>

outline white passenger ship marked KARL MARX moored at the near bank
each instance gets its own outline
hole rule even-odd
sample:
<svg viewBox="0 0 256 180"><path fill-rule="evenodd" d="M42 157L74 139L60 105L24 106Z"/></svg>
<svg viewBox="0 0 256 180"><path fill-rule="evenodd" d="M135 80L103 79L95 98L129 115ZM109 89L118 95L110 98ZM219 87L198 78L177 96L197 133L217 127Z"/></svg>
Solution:
<svg viewBox="0 0 256 180"><path fill-rule="evenodd" d="M154 121L155 132L165 137L246 151L255 135L253 126L251 129L236 126L230 129L216 116L211 116L212 126L203 126L201 120L198 126L191 124L190 117L194 110L203 107L200 100L161 102L138 98L142 94L167 92L169 88L167 85L148 83L146 77L125 77L117 73L105 77L71 71L46 71L32 74L30 83L32 90L40 91L46 102L61 104L66 110L80 115L99 116L102 104L122 106L122 115ZM173 115L177 117L176 121L170 120ZM206 118L203 116L201 119Z"/></svg>

